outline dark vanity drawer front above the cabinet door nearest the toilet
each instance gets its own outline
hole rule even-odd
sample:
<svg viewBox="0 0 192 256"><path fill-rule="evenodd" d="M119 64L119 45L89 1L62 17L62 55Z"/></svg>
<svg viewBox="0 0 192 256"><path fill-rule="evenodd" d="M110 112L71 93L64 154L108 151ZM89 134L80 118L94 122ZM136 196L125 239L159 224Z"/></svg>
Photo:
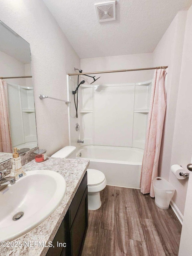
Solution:
<svg viewBox="0 0 192 256"><path fill-rule="evenodd" d="M75 215L77 213L79 204L82 200L82 197L83 197L83 194L84 194L86 188L87 188L87 172L85 173L85 176L83 177L82 182L79 185L78 190L76 191L73 201L69 206L69 226L70 227L73 224Z"/></svg>

